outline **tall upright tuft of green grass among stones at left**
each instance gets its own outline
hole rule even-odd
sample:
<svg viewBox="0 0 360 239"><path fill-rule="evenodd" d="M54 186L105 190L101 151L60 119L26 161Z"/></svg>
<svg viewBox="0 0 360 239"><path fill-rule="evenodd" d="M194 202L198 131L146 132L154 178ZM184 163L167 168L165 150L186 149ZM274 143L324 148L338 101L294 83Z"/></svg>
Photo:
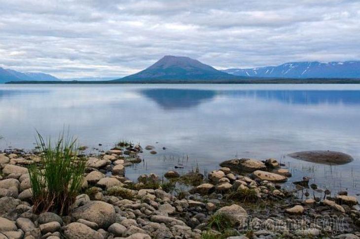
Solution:
<svg viewBox="0 0 360 239"><path fill-rule="evenodd" d="M45 142L37 132L36 143L42 165L29 167L33 212L53 211L67 215L81 190L85 170L85 162L76 158L76 139L65 137L63 133L52 144L50 139Z"/></svg>

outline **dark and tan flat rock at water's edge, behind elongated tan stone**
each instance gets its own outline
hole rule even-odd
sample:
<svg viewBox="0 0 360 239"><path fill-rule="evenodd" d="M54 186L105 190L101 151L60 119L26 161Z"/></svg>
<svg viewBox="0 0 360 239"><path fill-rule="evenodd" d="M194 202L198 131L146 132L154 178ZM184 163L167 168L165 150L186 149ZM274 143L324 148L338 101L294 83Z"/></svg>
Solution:
<svg viewBox="0 0 360 239"><path fill-rule="evenodd" d="M253 172L255 170L265 170L266 166L263 162L256 159L231 159L220 163L221 167L228 167L238 173Z"/></svg>

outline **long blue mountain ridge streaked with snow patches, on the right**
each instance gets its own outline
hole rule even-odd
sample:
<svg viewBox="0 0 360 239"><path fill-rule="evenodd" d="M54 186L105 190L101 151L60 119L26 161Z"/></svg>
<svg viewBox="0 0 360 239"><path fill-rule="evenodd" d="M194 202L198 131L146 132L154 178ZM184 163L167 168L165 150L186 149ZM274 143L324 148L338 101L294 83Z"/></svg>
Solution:
<svg viewBox="0 0 360 239"><path fill-rule="evenodd" d="M291 62L280 66L251 69L227 69L228 74L245 77L271 78L360 78L360 61Z"/></svg>

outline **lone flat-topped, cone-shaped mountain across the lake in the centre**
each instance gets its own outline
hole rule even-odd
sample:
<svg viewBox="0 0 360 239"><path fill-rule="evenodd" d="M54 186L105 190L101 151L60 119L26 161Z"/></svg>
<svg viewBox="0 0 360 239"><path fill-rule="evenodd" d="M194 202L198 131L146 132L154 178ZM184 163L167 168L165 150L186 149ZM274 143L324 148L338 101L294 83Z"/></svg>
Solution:
<svg viewBox="0 0 360 239"><path fill-rule="evenodd" d="M189 57L164 56L141 72L113 81L226 80L237 78Z"/></svg>

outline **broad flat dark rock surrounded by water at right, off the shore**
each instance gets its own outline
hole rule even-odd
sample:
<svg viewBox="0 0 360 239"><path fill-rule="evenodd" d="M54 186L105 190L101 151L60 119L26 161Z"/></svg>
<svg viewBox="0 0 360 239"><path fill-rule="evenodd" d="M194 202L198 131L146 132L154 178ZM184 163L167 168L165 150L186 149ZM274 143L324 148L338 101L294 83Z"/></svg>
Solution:
<svg viewBox="0 0 360 239"><path fill-rule="evenodd" d="M309 162L323 164L345 164L353 161L353 157L341 152L319 150L319 151L302 151L289 154L291 158L300 159Z"/></svg>

